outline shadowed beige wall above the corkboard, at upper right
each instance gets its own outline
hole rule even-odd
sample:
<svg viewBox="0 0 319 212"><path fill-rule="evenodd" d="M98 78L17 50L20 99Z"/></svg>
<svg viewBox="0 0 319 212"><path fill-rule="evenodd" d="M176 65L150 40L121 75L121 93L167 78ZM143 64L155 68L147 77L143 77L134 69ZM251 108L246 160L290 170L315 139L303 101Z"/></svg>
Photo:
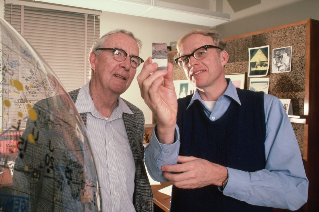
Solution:
<svg viewBox="0 0 319 212"><path fill-rule="evenodd" d="M319 20L318 0L218 0L217 3L219 3L218 9L222 7L224 13L232 15L232 21L216 27L223 38L308 18Z"/></svg>

